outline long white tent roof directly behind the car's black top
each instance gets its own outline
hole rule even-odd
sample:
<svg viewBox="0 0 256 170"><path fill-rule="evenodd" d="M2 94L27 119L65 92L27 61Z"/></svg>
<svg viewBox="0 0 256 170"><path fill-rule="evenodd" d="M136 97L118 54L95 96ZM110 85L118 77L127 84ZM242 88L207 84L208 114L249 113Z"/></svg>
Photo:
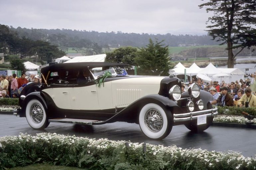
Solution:
<svg viewBox="0 0 256 170"><path fill-rule="evenodd" d="M80 62L104 62L106 54L89 55L89 56L77 56L64 63L80 63Z"/></svg>

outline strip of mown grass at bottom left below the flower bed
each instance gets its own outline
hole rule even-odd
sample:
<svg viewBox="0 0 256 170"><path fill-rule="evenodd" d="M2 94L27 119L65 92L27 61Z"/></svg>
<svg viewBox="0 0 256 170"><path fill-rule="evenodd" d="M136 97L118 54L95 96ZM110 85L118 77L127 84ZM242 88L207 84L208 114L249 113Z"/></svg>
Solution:
<svg viewBox="0 0 256 170"><path fill-rule="evenodd" d="M24 167L15 167L10 170L81 170L81 168L67 167L67 166L54 166L47 164L33 164Z"/></svg>

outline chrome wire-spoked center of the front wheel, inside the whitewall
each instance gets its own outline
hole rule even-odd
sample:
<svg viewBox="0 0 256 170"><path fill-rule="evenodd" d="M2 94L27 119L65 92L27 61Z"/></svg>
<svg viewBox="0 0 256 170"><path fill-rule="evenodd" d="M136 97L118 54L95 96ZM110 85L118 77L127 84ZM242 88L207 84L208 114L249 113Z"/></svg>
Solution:
<svg viewBox="0 0 256 170"><path fill-rule="evenodd" d="M161 113L155 109L147 111L144 122L146 127L152 132L158 132L163 127L163 117Z"/></svg>

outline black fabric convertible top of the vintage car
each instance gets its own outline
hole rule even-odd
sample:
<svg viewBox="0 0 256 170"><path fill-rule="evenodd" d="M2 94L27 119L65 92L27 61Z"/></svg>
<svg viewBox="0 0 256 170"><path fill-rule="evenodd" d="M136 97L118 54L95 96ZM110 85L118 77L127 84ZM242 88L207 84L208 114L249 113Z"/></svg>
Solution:
<svg viewBox="0 0 256 170"><path fill-rule="evenodd" d="M53 64L41 69L42 74L47 74L50 70L60 70L60 69L74 69L79 67L107 67L107 66L128 66L129 64L122 63L106 63L106 62L80 62L80 63L60 63Z"/></svg>

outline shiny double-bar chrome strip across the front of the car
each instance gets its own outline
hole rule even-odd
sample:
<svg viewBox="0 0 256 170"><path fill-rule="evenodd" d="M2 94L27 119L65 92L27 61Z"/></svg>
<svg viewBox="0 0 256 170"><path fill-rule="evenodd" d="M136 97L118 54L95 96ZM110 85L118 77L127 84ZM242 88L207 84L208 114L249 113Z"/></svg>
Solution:
<svg viewBox="0 0 256 170"><path fill-rule="evenodd" d="M174 122L176 120L180 120L183 118L191 118L197 115L204 115L204 114L213 114L216 115L218 114L218 108L213 108L213 109L207 109L207 110L201 110L201 111L195 111L195 112L189 112L189 113L182 113L182 114L173 114Z"/></svg>

